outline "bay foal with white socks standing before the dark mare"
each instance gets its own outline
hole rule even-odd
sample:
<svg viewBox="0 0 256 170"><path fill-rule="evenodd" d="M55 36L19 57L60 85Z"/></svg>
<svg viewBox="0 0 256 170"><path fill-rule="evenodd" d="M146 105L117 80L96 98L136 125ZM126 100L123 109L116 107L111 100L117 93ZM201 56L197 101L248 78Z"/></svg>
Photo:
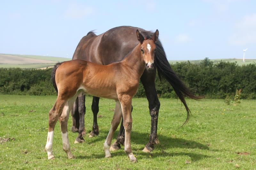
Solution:
<svg viewBox="0 0 256 170"><path fill-rule="evenodd" d="M145 39L136 30L138 45L121 62L100 65L85 60L71 60L55 66L55 86L58 90L57 100L49 112L49 129L45 149L48 159L52 154L53 131L59 118L63 150L68 158L74 158L68 140L68 117L73 103L80 92L93 96L116 100L116 108L111 128L104 143L105 157L111 157L110 145L122 117L124 119L124 151L130 161L136 162L131 148L132 97L136 94L140 77L145 70L154 69L154 57L158 39L158 30L150 39ZM121 112L122 110L122 112Z"/></svg>

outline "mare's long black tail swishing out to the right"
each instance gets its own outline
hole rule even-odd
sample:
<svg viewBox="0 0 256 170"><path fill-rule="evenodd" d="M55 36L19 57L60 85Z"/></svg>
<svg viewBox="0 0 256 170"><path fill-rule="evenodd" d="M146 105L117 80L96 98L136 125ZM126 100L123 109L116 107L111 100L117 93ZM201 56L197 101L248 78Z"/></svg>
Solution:
<svg viewBox="0 0 256 170"><path fill-rule="evenodd" d="M180 80L180 78L176 75L176 73L172 70L170 63L166 58L166 54L164 52L164 48L160 40L156 41L156 48L157 50L156 50L155 62L156 62L156 68L157 68L159 79L161 81L161 78L164 77L172 85L173 90L176 92L177 96L180 98L181 102L183 103L183 105L187 110L187 119L183 123L184 125L185 123L188 122L191 114L184 97L189 97L195 100L199 100L202 97L195 96L189 90L189 88Z"/></svg>

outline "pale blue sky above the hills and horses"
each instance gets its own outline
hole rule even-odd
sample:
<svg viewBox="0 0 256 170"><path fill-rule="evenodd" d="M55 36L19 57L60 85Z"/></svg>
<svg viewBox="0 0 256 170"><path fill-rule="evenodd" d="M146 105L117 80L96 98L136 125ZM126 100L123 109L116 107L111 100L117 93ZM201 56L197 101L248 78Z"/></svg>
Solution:
<svg viewBox="0 0 256 170"><path fill-rule="evenodd" d="M0 53L72 57L90 30L159 30L169 60L256 59L256 1L1 1Z"/></svg>

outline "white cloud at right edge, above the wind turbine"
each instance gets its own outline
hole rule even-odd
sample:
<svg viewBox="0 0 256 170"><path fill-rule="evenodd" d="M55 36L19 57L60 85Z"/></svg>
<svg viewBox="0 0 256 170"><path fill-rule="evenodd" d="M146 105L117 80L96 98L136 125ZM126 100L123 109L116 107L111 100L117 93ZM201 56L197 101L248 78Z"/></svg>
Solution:
<svg viewBox="0 0 256 170"><path fill-rule="evenodd" d="M235 26L235 33L230 37L232 45L256 43L256 14L246 15Z"/></svg>

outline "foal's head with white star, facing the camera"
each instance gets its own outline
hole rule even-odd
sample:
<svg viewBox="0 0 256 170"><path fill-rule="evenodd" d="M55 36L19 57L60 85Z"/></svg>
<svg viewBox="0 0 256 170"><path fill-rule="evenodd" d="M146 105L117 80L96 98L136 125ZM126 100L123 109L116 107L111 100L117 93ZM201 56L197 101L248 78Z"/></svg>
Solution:
<svg viewBox="0 0 256 170"><path fill-rule="evenodd" d="M153 70L154 57L156 52L155 42L158 39L158 30L156 30L156 32L149 39L144 38L144 36L140 33L139 30L136 30L136 34L138 40L140 41L141 56L143 57L146 63L146 69Z"/></svg>

